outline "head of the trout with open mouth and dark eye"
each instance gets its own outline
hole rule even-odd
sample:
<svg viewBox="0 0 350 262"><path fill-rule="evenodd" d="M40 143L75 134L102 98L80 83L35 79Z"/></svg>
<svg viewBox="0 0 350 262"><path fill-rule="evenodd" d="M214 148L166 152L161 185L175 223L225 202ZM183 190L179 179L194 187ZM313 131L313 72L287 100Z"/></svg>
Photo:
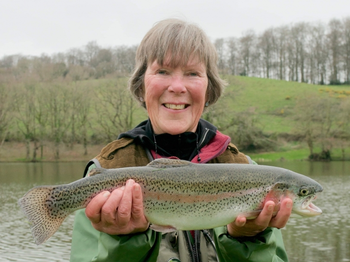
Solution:
<svg viewBox="0 0 350 262"><path fill-rule="evenodd" d="M303 218L322 214L322 210L312 201L317 194L323 191L323 187L315 180L286 170L272 187L271 192L280 195L280 202L289 197L293 200L292 214L290 217Z"/></svg>

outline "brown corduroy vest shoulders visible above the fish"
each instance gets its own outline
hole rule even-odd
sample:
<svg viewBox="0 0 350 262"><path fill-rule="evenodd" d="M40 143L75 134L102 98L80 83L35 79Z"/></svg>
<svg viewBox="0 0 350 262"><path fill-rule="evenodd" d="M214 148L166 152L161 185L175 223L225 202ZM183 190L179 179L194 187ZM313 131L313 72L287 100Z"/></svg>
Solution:
<svg viewBox="0 0 350 262"><path fill-rule="evenodd" d="M123 137L105 146L96 156L103 168L121 168L130 166L145 166L150 163L144 148L135 144L132 138ZM249 164L245 154L229 143L227 149L218 157L210 160L208 164Z"/></svg>

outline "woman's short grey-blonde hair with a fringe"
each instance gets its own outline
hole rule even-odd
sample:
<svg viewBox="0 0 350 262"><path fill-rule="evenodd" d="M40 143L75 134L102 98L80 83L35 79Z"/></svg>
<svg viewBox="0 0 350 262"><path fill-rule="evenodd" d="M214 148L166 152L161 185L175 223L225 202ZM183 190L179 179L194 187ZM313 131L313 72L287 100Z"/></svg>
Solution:
<svg viewBox="0 0 350 262"><path fill-rule="evenodd" d="M162 66L168 55L172 67L185 66L192 57L204 63L208 76L208 102L212 105L220 98L227 82L219 76L218 55L209 37L195 24L165 19L157 22L143 37L136 52L135 69L129 79L129 89L143 107L145 103L140 98L147 66L156 60Z"/></svg>

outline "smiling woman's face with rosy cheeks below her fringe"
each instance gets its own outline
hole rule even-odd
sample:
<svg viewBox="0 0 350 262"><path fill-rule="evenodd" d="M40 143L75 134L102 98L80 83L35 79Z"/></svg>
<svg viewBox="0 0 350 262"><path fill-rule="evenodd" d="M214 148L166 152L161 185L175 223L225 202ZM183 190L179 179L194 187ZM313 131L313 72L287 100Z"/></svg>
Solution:
<svg viewBox="0 0 350 262"><path fill-rule="evenodd" d="M184 67L149 64L143 98L156 134L195 132L206 103L208 77L203 63L191 59Z"/></svg>

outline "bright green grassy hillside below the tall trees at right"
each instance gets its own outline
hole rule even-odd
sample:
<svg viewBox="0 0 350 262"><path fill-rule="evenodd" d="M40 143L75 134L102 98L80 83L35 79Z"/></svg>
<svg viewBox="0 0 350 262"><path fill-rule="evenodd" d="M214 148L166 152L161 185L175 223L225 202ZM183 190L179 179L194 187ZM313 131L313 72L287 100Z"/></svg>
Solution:
<svg viewBox="0 0 350 262"><path fill-rule="evenodd" d="M255 108L263 126L270 133L290 132L294 126L292 109L298 98L307 96L329 96L326 88L334 91L350 91L350 85L314 85L256 77L225 75L229 82L226 95L220 103L235 111ZM349 94L350 95L350 94ZM346 96L349 96L346 95ZM336 99L338 94L333 94ZM344 95L343 95L344 96Z"/></svg>

